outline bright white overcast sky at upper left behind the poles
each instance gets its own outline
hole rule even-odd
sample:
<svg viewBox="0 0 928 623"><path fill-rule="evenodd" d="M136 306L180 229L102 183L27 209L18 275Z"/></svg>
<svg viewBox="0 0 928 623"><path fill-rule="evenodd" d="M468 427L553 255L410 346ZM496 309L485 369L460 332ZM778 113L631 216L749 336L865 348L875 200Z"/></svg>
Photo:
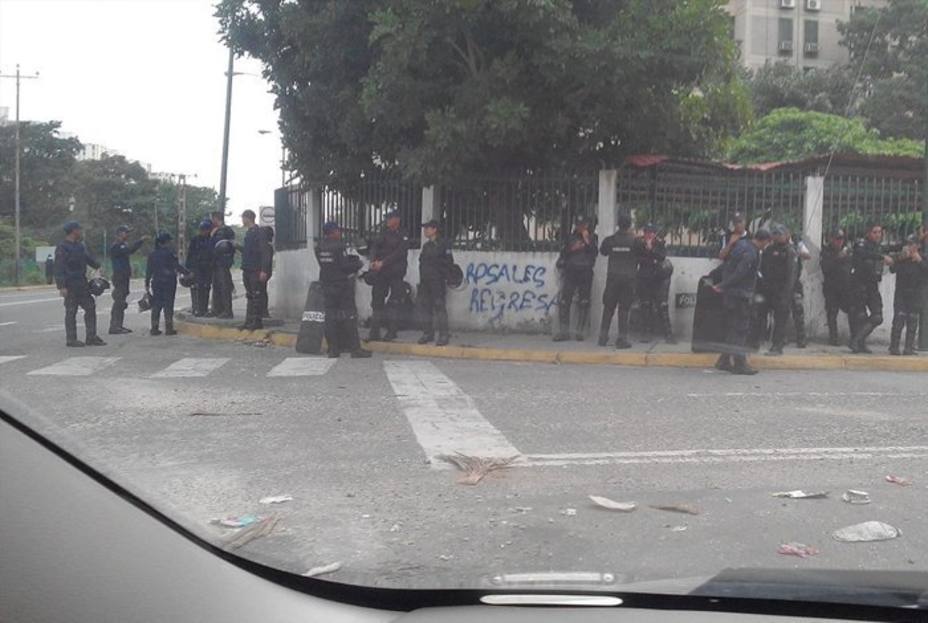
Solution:
<svg viewBox="0 0 928 623"><path fill-rule="evenodd" d="M153 171L196 174L219 189L226 48L212 0L0 0L0 73L16 64L23 120L58 120L85 143L100 143ZM260 75L260 63L235 71ZM274 98L262 78L232 88L228 206L273 204L280 186ZM0 80L0 106L15 105L14 81ZM261 135L259 130L271 130Z"/></svg>

